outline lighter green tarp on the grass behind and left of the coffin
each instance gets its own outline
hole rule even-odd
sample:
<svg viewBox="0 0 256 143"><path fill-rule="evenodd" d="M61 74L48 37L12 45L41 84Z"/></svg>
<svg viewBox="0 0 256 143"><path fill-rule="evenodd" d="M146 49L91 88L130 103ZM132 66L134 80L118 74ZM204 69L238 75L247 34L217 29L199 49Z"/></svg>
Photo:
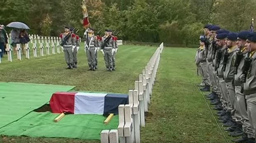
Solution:
<svg viewBox="0 0 256 143"><path fill-rule="evenodd" d="M50 101L52 93L74 86L0 82L0 128Z"/></svg>

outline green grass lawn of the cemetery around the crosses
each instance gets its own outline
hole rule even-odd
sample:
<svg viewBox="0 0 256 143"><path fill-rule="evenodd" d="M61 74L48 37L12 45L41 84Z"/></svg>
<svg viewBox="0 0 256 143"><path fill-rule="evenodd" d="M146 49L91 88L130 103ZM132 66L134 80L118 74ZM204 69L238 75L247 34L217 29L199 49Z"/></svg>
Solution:
<svg viewBox="0 0 256 143"><path fill-rule="evenodd" d="M65 69L63 53L12 63L3 61L0 64L0 81L76 85L76 90L128 93L155 50L156 47L120 46L116 57L117 70L114 72L105 71L101 53L98 71L87 71L86 56L82 48L78 55L78 69L73 70ZM194 64L195 51L193 48L164 49L146 116L146 127L141 129L142 143L225 143L204 98L195 86L200 82ZM228 136L227 133L225 135ZM100 141L2 136L0 142Z"/></svg>

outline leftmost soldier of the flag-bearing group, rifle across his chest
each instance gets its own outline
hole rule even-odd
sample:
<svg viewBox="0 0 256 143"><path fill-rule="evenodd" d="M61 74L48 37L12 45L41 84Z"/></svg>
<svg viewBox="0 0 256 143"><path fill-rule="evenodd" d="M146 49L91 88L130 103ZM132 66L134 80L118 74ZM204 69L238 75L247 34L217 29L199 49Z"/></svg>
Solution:
<svg viewBox="0 0 256 143"><path fill-rule="evenodd" d="M65 37L68 38L66 39ZM73 68L73 51L76 48L76 37L70 33L69 27L65 26L65 32L60 34L61 43L63 43L63 51L68 67L66 69Z"/></svg>

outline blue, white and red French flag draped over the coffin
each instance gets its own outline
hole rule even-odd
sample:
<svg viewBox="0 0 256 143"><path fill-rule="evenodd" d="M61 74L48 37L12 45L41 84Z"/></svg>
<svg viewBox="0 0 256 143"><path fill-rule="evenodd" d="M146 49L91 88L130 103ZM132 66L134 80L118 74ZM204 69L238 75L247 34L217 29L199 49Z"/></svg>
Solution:
<svg viewBox="0 0 256 143"><path fill-rule="evenodd" d="M118 114L118 106L128 104L128 95L93 92L56 92L50 99L52 113Z"/></svg>

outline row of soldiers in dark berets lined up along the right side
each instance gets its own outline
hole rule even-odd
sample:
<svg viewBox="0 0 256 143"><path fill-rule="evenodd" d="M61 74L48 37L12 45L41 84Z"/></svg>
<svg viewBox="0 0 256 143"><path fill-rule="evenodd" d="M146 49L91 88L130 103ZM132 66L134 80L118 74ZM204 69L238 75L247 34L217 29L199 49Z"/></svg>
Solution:
<svg viewBox="0 0 256 143"><path fill-rule="evenodd" d="M217 110L219 122L236 143L255 143L256 131L256 33L239 33L206 25L200 36L196 65L202 91ZM204 45L204 46L203 46ZM207 68L208 67L208 68ZM208 80L209 79L209 80Z"/></svg>

